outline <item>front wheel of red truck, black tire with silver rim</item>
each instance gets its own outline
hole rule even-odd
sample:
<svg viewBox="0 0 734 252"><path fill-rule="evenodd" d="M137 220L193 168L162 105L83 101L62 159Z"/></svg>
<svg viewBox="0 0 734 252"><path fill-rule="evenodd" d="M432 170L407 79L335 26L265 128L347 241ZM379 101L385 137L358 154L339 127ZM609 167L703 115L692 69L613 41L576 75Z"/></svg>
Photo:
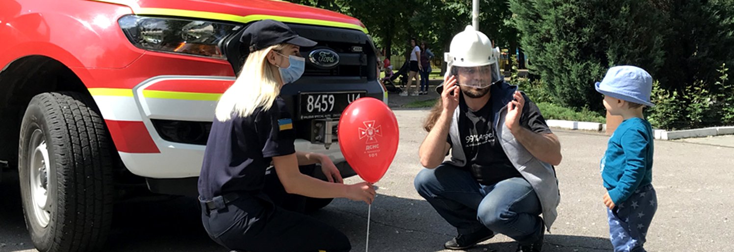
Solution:
<svg viewBox="0 0 734 252"><path fill-rule="evenodd" d="M112 145L81 93L41 93L21 123L18 173L38 251L98 251L112 223Z"/></svg>

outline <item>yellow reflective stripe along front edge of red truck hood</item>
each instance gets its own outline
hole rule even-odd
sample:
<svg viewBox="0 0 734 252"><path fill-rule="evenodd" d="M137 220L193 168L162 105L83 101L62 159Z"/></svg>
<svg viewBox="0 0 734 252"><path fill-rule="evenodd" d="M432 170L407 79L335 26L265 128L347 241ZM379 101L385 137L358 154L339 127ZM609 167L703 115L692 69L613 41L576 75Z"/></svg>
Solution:
<svg viewBox="0 0 734 252"><path fill-rule="evenodd" d="M135 14L139 14L139 15L171 15L171 16L179 16L179 17L186 17L186 18L204 18L204 19L221 20L221 21L232 21L232 22L237 22L237 23L242 23L242 24L247 24L252 21L258 21L258 20L263 20L263 19L273 19L273 20L284 22L284 23L315 24L319 26L333 26L333 27L340 27L340 28L346 28L346 29L356 29L358 31L368 33L366 28L362 26L358 26L356 24L342 23L342 22L336 22L336 21L325 21L325 20L310 19L310 18L283 17L279 15L241 16L241 15L231 15L231 14L217 13L217 12L203 12L203 11L197 11L197 10L176 10L176 9L164 9L164 8L139 8L139 10L134 10L134 11L135 11Z"/></svg>

